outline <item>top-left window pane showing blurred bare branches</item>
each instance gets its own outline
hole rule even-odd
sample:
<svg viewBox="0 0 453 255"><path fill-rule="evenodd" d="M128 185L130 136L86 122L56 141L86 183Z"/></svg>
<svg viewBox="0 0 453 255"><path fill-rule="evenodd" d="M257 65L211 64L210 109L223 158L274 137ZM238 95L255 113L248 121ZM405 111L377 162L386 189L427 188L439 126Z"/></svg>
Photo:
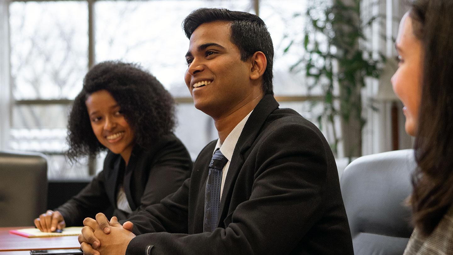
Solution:
<svg viewBox="0 0 453 255"><path fill-rule="evenodd" d="M15 99L74 98L87 72L87 2L12 2Z"/></svg>

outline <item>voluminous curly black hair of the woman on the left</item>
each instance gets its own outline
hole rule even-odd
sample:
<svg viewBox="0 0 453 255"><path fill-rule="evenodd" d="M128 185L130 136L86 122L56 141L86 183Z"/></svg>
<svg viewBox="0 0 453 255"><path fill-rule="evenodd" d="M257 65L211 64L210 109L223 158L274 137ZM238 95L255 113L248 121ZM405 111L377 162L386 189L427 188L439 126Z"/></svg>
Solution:
<svg viewBox="0 0 453 255"><path fill-rule="evenodd" d="M135 135L135 143L148 147L158 137L173 132L174 100L162 84L138 64L105 61L93 66L74 99L67 125L66 152L71 161L105 150L96 138L85 101L94 92L108 91L116 100Z"/></svg>

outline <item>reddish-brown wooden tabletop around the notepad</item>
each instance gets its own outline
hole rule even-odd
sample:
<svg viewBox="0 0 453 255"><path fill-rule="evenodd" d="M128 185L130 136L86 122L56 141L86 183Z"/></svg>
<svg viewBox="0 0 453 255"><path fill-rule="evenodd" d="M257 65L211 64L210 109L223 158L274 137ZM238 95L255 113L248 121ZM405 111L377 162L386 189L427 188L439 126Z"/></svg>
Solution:
<svg viewBox="0 0 453 255"><path fill-rule="evenodd" d="M30 227L0 227L0 255L29 255L30 250L79 249L77 235L28 238L10 230Z"/></svg>

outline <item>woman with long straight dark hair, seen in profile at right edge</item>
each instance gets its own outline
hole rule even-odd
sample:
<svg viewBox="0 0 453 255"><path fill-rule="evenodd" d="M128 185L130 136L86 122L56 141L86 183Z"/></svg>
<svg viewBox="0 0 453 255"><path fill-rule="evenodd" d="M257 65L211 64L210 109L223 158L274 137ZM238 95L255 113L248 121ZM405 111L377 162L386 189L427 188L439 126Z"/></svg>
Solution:
<svg viewBox="0 0 453 255"><path fill-rule="evenodd" d="M405 255L453 254L453 1L415 0L400 23L392 78L415 136L409 198L414 232Z"/></svg>

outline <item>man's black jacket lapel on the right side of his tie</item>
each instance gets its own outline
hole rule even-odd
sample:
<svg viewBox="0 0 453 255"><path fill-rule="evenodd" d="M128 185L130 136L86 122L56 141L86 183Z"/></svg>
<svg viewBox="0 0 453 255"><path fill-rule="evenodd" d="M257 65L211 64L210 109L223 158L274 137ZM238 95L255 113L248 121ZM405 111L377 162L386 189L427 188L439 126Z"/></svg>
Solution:
<svg viewBox="0 0 453 255"><path fill-rule="evenodd" d="M265 95L261 99L260 103L256 105L255 109L250 114L250 117L247 120L244 129L242 129L241 136L237 140L236 147L234 148L230 167L228 168L225 184L223 186L222 200L220 203L219 211L219 214L221 214L221 216L219 217L219 222L223 221L228 214L228 205L231 201L233 186L236 182L236 177L239 174L244 161L246 160L244 158L244 153L251 147L253 142L255 142L256 137L259 135L261 127L269 117L270 113L272 113L278 107L279 103L277 103L273 95ZM217 226L219 222L217 222Z"/></svg>

